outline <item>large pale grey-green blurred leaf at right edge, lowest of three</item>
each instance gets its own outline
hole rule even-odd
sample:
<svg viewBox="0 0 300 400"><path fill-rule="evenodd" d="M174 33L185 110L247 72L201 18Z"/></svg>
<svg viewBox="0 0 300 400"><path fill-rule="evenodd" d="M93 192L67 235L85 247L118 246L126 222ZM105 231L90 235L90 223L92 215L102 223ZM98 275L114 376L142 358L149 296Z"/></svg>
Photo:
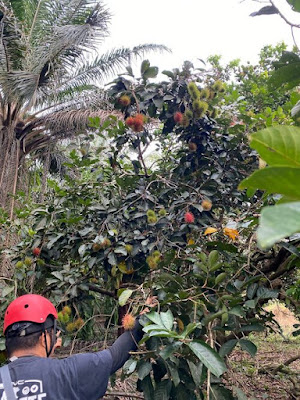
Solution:
<svg viewBox="0 0 300 400"><path fill-rule="evenodd" d="M300 232L300 202L279 204L262 210L257 230L258 245L262 249L297 232Z"/></svg>

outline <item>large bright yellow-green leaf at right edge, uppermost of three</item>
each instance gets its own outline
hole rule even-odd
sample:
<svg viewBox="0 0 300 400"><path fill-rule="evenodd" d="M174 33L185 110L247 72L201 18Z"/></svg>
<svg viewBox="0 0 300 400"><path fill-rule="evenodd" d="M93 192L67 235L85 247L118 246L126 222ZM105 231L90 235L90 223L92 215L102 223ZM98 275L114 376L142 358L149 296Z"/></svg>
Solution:
<svg viewBox="0 0 300 400"><path fill-rule="evenodd" d="M279 125L251 135L250 145L269 166L300 167L300 128Z"/></svg>

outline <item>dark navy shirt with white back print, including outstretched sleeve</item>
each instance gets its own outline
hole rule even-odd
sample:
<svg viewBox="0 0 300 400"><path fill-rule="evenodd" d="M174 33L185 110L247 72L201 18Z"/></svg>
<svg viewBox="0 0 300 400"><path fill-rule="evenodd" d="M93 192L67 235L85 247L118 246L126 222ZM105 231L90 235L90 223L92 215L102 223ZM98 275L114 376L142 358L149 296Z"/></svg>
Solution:
<svg viewBox="0 0 300 400"><path fill-rule="evenodd" d="M121 368L142 338L138 321L107 350L76 354L59 360L21 357L8 364L18 400L98 400L109 376ZM0 400L6 400L0 382Z"/></svg>

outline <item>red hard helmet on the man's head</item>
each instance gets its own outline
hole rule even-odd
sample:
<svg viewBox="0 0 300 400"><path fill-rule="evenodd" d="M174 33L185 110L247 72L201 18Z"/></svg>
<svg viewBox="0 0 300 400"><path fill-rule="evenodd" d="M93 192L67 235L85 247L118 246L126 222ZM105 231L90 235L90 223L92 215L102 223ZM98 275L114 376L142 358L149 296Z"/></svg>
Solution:
<svg viewBox="0 0 300 400"><path fill-rule="evenodd" d="M3 332L5 334L6 329L15 322L28 321L41 324L49 315L57 319L57 311L51 301L38 294L25 294L16 298L7 307Z"/></svg>

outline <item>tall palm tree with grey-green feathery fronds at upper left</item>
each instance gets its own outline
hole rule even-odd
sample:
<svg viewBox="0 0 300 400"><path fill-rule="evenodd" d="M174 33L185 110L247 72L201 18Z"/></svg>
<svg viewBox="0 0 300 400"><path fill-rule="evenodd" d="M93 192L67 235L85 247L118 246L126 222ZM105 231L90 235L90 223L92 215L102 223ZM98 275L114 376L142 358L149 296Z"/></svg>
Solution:
<svg viewBox="0 0 300 400"><path fill-rule="evenodd" d="M160 45L97 55L110 14L94 0L0 0L0 207L11 210L25 156L111 114L96 83Z"/></svg>

